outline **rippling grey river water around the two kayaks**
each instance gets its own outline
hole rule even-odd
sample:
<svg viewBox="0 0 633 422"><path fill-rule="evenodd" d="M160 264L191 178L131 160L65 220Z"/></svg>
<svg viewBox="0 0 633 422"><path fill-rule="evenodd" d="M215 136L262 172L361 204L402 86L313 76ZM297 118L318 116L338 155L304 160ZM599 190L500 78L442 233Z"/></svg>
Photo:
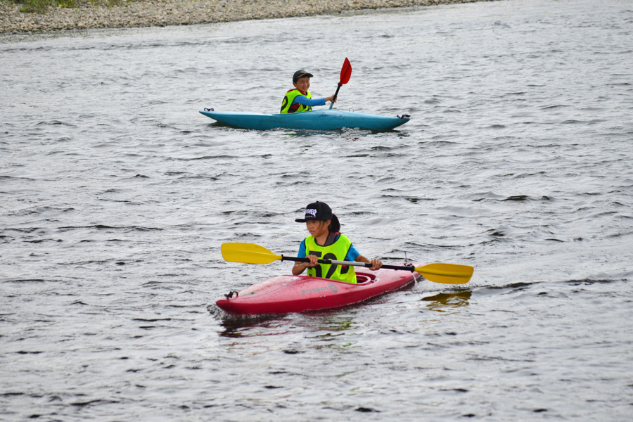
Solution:
<svg viewBox="0 0 633 422"><path fill-rule="evenodd" d="M393 132L255 132L293 72ZM633 4L511 0L0 37L0 420L629 421ZM470 264L240 319L329 203L384 262Z"/></svg>

